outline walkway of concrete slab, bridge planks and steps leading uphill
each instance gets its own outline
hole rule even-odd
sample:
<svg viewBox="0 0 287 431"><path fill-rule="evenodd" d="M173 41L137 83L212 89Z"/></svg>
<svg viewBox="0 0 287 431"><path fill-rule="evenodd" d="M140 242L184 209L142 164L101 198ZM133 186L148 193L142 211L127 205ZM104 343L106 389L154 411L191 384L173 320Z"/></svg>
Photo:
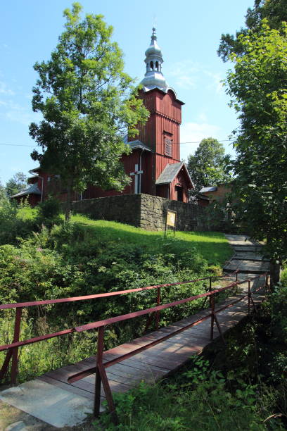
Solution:
<svg viewBox="0 0 287 431"><path fill-rule="evenodd" d="M237 249L242 249L243 246L253 247L255 250L250 251L249 248L248 254L250 254L250 252L254 253L254 256L256 254L257 258L259 258L260 255L258 251L260 251L260 245L258 246L251 242L246 244L244 237L241 236L228 235L227 238ZM239 252L242 253L241 250L239 250ZM231 268L233 268L235 264L234 261L236 260L237 263L239 262L239 268L242 268L244 271L248 270L249 274L250 266L246 264L246 259L236 259L236 254L237 250L234 258L231 259L227 265L227 271L231 271ZM258 266L254 269L255 274L257 274L257 271L262 271L262 267L260 266L262 261L258 259L257 264ZM250 276L252 276L252 273L250 273ZM247 275L247 277L249 277L249 275ZM247 277L246 274L240 275L241 279ZM234 277L232 280L234 280ZM264 277L260 280L260 282L264 284ZM258 286L259 284L257 280L255 280L253 289L257 289ZM218 304L216 309L238 299L238 295L244 296L247 289L248 283L246 282L240 286L237 296L229 297L221 304ZM264 292L259 292L253 296L255 304L259 304L262 299L264 299ZM110 349L110 351L105 352L104 360L109 361L148 342L152 342L167 334L172 334L175 330L179 330L189 325L189 323L193 323L207 316L208 313L210 313L210 310L205 309L190 318L180 320L158 331L151 332L144 337L134 339L132 342ZM222 332L227 332L231 327L234 327L234 325L247 314L247 298L234 306L225 308L224 311L217 315ZM219 336L216 325L214 336L215 338ZM132 358L107 368L110 387L113 392L127 392L135 385L138 385L141 380L155 382L173 373L177 368L186 363L186 361L189 361L191 356L200 354L208 344L210 344L210 318L184 330L184 332L180 334L170 337L164 342L160 342L160 344L146 351L132 356ZM84 361L79 361L75 365L65 366L58 370L45 373L37 379L23 383L23 385L0 392L0 399L54 427L79 425L85 420L87 413L91 413L92 411L95 375L89 375L72 384L68 383L68 378L81 370L87 370L95 366L95 363L95 356L91 356L90 358L84 359ZM103 393L102 397L104 399Z"/></svg>

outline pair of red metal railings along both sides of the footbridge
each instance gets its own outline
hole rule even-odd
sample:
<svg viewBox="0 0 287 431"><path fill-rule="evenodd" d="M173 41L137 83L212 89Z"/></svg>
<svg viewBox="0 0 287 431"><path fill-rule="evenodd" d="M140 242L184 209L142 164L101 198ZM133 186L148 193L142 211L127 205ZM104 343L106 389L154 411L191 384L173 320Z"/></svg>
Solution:
<svg viewBox="0 0 287 431"><path fill-rule="evenodd" d="M264 276L264 277L266 277L265 285L267 286L268 285L268 275L267 274L257 275L256 277L252 277L252 278L247 279L247 280L238 281L238 271L235 271L235 273L233 273L233 275L234 274L236 275L236 281L235 282L232 282L230 285L228 285L226 287L222 287L222 288L214 289L214 290L212 290L212 280L230 277L230 275L210 276L210 277L200 278L197 280L189 280L186 282L174 282L174 283L168 283L168 284L164 284L164 285L139 287L136 289L127 289L127 290L122 290L122 291L117 291L117 292L108 292L106 294L94 294L94 295L86 295L86 296L75 296L75 297L63 298L63 299L47 299L44 301L30 301L30 302L23 302L23 303L17 303L17 304L0 305L0 310L1 309L6 310L6 309L10 309L10 308L16 309L13 342L11 344L4 344L4 345L0 346L0 351L5 351L5 350L8 351L6 358L4 360L3 366L0 370L0 380L6 374L6 372L8 370L9 363L10 363L11 358L12 358L11 383L15 384L16 376L17 376L17 370L18 370L18 349L20 346L26 346L27 344L32 344L35 342L44 341L45 339L51 339L53 337L60 337L62 335L70 334L72 332L83 332L84 330L92 330L92 329L97 328L98 329L98 343L97 343L98 349L97 349L95 367L91 368L90 370L85 370L81 373L78 373L78 374L70 377L69 381L70 382L76 381L76 380L79 380L79 379L85 377L86 375L90 375L90 374L96 372L94 413L96 416L98 416L99 408L100 408L101 383L103 383L103 389L104 389L105 394L106 394L106 399L108 401L108 406L109 406L110 412L113 413L115 411L115 408L114 408L114 404L113 404L113 396L111 394L110 386L108 384L108 378L106 376L106 368L112 366L114 363L124 361L125 359L127 359L131 356L134 356L135 354L140 353L141 351L149 349L150 347L154 346L155 344L158 344L162 341L165 341L165 339L173 337L174 335L177 335L179 332L182 332L182 331L188 329L189 327L191 327L193 325L198 325L198 323L200 323L203 320L206 320L208 318L211 318L210 339L213 339L214 323L216 323L219 334L221 335L222 339L224 340L224 337L222 335L222 331L220 329L216 314L219 313L219 311L222 311L224 308L232 306L232 305L236 304L238 301L245 299L246 296L248 296L248 312L250 311L250 302L252 302L253 306L254 306L254 302L253 302L253 298L252 298L252 292L250 290L250 282L252 280L256 280L257 278ZM195 296L191 296L191 297L186 298L186 299L180 299L178 301L173 301L169 304L160 305L160 289L162 287L185 285L185 284L189 284L192 282L198 282L198 281L203 281L203 280L209 280L210 281L208 292L203 293L203 294L198 294ZM248 282L248 294L246 294L245 296L241 296L239 299L236 299L236 301L233 301L232 303L228 304L227 306L219 308L215 311L215 295L216 294L219 294L220 292L224 292L227 289L232 289L234 287L236 287L236 289L237 289L238 285L241 285L245 282ZM107 296L117 296L117 295L122 295L122 294L129 294L129 293L133 293L133 292L142 292L142 291L151 290L151 289L157 289L157 292L158 292L158 294L157 294L157 306L155 306L153 308L147 308L145 310L136 311L134 313L128 313L128 314L125 314L122 316L116 316L114 318L99 320L98 322L88 323L87 325L82 325L79 327L73 327L73 328L70 328L68 330L53 332L52 334L42 335L39 337L34 337L31 339L19 341L19 339L20 339L20 322L21 322L21 316L22 316L22 311L23 311L24 307L68 303L68 302L75 302L75 301L84 301L87 299L98 299L98 298L104 298ZM172 334L165 335L164 337L160 337L159 339L156 339L153 342L145 344L144 346L141 346L138 349L134 349L133 351L129 352L128 354L124 354L122 356L119 356L118 358L113 359L112 361L108 361L106 363L103 363L103 337L104 337L104 327L106 325L111 325L113 323L119 323L119 322L124 321L124 320L129 320L129 319L136 318L139 316L145 316L145 315L148 315L150 313L155 313L155 327L158 327L160 311L162 311L166 308L173 307L173 306L178 306L180 304L186 304L190 301L194 301L194 300L200 299L200 298L205 298L205 299L209 298L210 299L211 311L207 316L205 316L199 320L196 320L195 322L190 323L189 325L186 325L185 327L181 327L179 330L172 332Z"/></svg>

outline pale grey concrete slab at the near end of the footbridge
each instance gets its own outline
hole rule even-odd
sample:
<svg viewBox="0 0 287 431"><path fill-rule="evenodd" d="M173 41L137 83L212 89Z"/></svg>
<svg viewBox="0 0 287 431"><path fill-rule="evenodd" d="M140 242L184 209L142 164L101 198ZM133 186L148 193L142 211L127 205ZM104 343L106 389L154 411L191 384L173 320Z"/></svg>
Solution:
<svg viewBox="0 0 287 431"><path fill-rule="evenodd" d="M93 411L93 401L38 379L5 389L0 399L58 428L80 425Z"/></svg>

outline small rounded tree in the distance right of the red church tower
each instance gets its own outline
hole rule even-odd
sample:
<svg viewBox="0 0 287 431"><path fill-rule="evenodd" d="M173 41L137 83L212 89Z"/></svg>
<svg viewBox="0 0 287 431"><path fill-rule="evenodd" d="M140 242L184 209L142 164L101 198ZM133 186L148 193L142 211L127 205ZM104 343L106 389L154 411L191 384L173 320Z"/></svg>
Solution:
<svg viewBox="0 0 287 431"><path fill-rule="evenodd" d="M224 153L224 146L217 139L209 137L200 142L193 156L189 156L187 165L197 192L202 187L231 179L227 172L229 156Z"/></svg>

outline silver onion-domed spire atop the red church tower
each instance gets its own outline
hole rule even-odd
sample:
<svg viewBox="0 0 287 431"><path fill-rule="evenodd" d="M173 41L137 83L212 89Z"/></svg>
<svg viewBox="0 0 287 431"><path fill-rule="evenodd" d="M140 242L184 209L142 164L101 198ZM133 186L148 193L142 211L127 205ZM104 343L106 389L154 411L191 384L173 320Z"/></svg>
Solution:
<svg viewBox="0 0 287 431"><path fill-rule="evenodd" d="M144 86L144 91L147 92L150 89L158 88L164 92L167 92L168 84L165 77L162 75L162 51L158 46L157 37L155 35L155 28L153 27L153 34L151 35L151 44L146 50L146 74L144 79L141 81L141 85Z"/></svg>

